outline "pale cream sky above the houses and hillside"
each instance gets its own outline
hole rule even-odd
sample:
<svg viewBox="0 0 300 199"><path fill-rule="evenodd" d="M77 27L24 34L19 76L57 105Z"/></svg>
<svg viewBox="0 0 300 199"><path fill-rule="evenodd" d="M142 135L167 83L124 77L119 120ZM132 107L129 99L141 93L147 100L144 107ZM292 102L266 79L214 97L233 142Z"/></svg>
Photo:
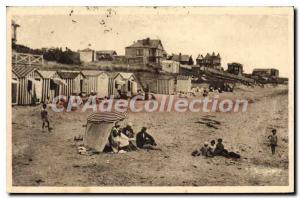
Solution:
<svg viewBox="0 0 300 199"><path fill-rule="evenodd" d="M116 50L124 55L126 46L150 37L160 39L169 54L190 54L195 60L199 54L215 52L225 69L227 63L239 62L247 73L277 68L280 76L289 75L293 40L288 15L206 13L196 8L76 9L71 16L71 8L13 15L20 25L17 43L31 48Z"/></svg>

